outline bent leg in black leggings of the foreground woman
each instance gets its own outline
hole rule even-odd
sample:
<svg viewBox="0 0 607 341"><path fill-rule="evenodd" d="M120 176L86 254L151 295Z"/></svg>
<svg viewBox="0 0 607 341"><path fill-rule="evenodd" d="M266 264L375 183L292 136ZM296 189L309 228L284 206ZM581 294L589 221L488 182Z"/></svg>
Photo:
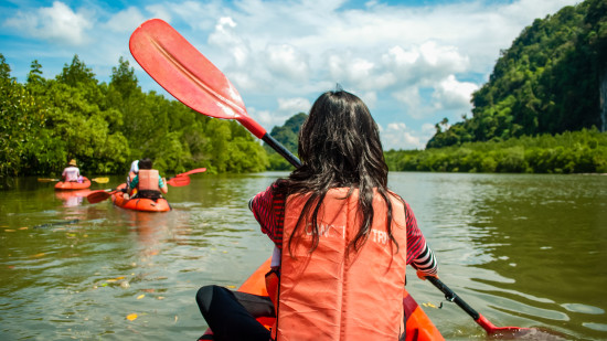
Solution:
<svg viewBox="0 0 607 341"><path fill-rule="evenodd" d="M268 297L212 285L199 289L196 302L214 340L268 341L270 338L270 332L255 319L276 316Z"/></svg>

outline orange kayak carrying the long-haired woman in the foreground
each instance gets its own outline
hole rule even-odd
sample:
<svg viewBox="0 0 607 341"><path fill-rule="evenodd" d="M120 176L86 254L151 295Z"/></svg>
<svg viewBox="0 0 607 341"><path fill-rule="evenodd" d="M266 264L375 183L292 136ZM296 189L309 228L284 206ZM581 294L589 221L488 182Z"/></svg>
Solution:
<svg viewBox="0 0 607 341"><path fill-rule="evenodd" d="M251 277L238 288L238 291L248 292L259 296L268 296L266 291L265 275L269 271L271 258L268 258L259 266ZM445 338L440 334L436 326L417 305L415 299L405 290L403 298L405 307L406 323L406 341L444 341ZM274 318L258 318L257 321L269 329L274 324ZM212 334L211 330L206 330L205 334Z"/></svg>

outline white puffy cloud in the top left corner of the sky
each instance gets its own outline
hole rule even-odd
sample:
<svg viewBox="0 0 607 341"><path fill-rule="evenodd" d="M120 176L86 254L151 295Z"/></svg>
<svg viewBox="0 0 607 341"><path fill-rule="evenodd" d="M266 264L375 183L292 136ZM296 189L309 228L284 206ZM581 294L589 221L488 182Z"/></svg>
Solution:
<svg viewBox="0 0 607 341"><path fill-rule="evenodd" d="M77 13L61 1L52 7L34 11L18 11L4 25L24 35L52 41L58 44L81 45L87 43L86 30L93 28L92 13L81 10Z"/></svg>

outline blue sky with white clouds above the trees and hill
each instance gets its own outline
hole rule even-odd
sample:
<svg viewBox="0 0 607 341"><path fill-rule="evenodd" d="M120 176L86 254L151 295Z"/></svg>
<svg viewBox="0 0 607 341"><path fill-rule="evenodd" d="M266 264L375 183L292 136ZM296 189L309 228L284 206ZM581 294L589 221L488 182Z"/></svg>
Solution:
<svg viewBox="0 0 607 341"><path fill-rule="evenodd" d="M266 129L339 83L370 107L384 149L423 149L436 122L470 115L500 50L535 18L578 2L2 0L0 53L19 82L33 60L52 78L74 54L109 82L124 56L143 90L171 97L128 51L132 31L160 18L224 72Z"/></svg>

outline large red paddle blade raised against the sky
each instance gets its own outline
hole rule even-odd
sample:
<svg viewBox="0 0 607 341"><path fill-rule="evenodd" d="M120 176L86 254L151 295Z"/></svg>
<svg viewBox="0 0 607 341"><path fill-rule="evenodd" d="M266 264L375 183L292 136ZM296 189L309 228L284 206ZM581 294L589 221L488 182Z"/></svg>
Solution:
<svg viewBox="0 0 607 341"><path fill-rule="evenodd" d="M143 22L129 47L137 63L181 103L206 116L237 119L257 138L265 135L227 77L167 22Z"/></svg>

